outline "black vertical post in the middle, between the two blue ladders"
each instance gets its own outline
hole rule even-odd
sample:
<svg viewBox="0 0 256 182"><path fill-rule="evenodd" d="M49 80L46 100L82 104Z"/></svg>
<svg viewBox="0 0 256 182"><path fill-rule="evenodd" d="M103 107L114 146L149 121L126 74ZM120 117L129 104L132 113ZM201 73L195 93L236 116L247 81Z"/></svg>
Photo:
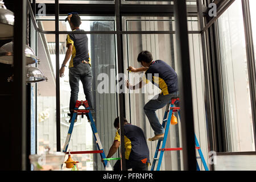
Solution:
<svg viewBox="0 0 256 182"><path fill-rule="evenodd" d="M124 73L123 68L123 42L122 42L122 16L120 15L121 0L115 0L115 21L117 25L117 61L118 61L118 74ZM121 81L121 80L119 80ZM122 86L125 86L125 80L122 80ZM125 133L123 130L123 117L125 117L125 93L119 93L119 126L120 126L120 136L121 136L121 169L122 171L127 171L125 162Z"/></svg>

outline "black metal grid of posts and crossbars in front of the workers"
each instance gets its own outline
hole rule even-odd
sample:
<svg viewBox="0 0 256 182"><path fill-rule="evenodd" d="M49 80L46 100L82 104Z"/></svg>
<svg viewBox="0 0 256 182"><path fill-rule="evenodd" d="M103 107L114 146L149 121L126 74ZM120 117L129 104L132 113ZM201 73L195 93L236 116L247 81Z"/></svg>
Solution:
<svg viewBox="0 0 256 182"><path fill-rule="evenodd" d="M117 24L116 24L117 31L86 31L86 32L82 32L82 34L116 34L117 35L118 72L123 73L122 34L175 34L175 31L122 31L122 24L121 24L122 16L124 16L124 15L150 15L150 16L154 16L154 15L170 16L171 15L171 16L173 16L174 8L176 8L177 12L182 12L182 11L184 11L184 9L187 9L187 6L185 5L185 1L183 1L183 2L177 1L177 4L179 4L181 6L174 6L174 5L170 5L170 6L166 6L166 5L159 5L159 6L156 6L156 5L121 5L121 0L115 0L114 13L115 13L115 18L116 18L116 22L117 22ZM59 113L58 110L60 111L60 98L59 98L59 94L57 94L60 92L59 84L57 84L57 80L59 80L59 64L58 64L59 63L59 54L57 53L57 52L59 52L59 34L69 34L71 32L59 31L59 14L60 14L59 9L60 9L60 6L65 6L65 5L63 5L63 4L59 5L59 1L55 0L54 6L55 6L55 26L56 26L55 31L40 30L40 28L36 24L35 16L33 14L30 3L28 3L27 7L30 12L30 15L32 18L32 23L34 24L34 28L36 31L41 32L43 34L55 34L55 38L56 38L56 110L57 110L56 114L57 114L57 113ZM102 9L102 6L100 6L100 5L92 5L92 6L96 7L96 9L97 8ZM113 6L113 5L109 5L109 6ZM190 10L194 9L193 15L195 15L195 8L196 8L196 6L188 5L188 12L190 12ZM63 10L63 8L61 8L61 9ZM71 7L69 6L68 9L71 9ZM104 9L106 10L106 7L104 7ZM111 8L110 8L110 10L111 10ZM94 9L94 13L95 12L98 12L98 11ZM92 13L90 13L90 12L89 12L89 14L92 15ZM102 15L102 12L100 14ZM107 13L107 14L109 15L109 13ZM112 14L113 14L113 11L112 11ZM97 15L99 15L99 14L97 14ZM188 39L185 39L185 40L187 40L187 41L185 41L184 38L187 37L188 33L189 34L199 34L200 31L187 31L187 29L183 28L183 26L187 27L187 15L186 14L184 16L184 14L180 13L179 15L177 15L177 18L179 18L179 19L181 18L181 20L182 20L182 23L179 24L180 25L179 31L181 32L181 34L180 34L181 39L179 39L179 42L181 42L181 43L187 42L186 46L184 45L184 46L180 47L180 48L182 48L182 52L180 52L180 55L183 55L183 56L187 55L186 60L189 60L189 59L187 59L187 58L189 58L189 56L188 56L189 55ZM74 33L74 32L72 32L72 33ZM78 33L78 34L80 34L80 33ZM183 81L186 81L187 76L190 77L190 70L189 70L190 68L188 67L188 64L183 64L182 69L184 69L184 73L186 73L186 74L184 74L185 77L184 77ZM188 80L190 80L190 79L188 79ZM185 82L183 82L183 85L186 85L187 89L191 90L191 84L185 84ZM186 104L184 104L184 106L189 107L189 105L190 105L192 107L192 93L188 93L188 92L184 92L184 93L185 93L184 97L187 97L187 99L186 99L187 101L185 101ZM124 102L125 102L125 97L124 97L124 94L121 93L121 94L119 94L119 116L121 118L120 119L120 126L121 126L120 129L121 129L121 154L122 154L122 156L125 156L125 153L124 153L125 151L122 150L122 148L124 148L124 142L123 142L124 141L123 140L124 133L123 133L123 125L122 125L122 123L123 123L122 118L125 117ZM184 116L184 118L185 118L185 115L189 116L189 118L191 118L191 117L193 118L193 113L191 112L191 109L188 109L188 107L183 109L184 113L187 113L187 114L183 114L183 116ZM189 107L189 108L191 108L191 107ZM57 120L57 122L56 122L56 125L57 125L57 127L56 127L57 151L60 151L60 118L58 117L58 114L57 114L56 120ZM193 125L191 125L191 126L193 126ZM186 134L187 132L190 135L187 135ZM185 142L185 143L190 144L191 146L194 147L195 140L193 137L191 139L191 136L194 135L193 127L186 127L186 130L183 131L183 134L184 134L184 137L187 136L187 137L185 137L187 139L186 140L187 142ZM188 148L190 148L191 146L188 146ZM191 160L191 159L195 159L195 150L192 150L192 152L189 149L184 150L184 151L187 151L187 152L184 152L185 158L187 159L187 161L184 163L188 163L187 169L196 169L195 160ZM126 170L125 159L122 160L122 170L123 171Z"/></svg>

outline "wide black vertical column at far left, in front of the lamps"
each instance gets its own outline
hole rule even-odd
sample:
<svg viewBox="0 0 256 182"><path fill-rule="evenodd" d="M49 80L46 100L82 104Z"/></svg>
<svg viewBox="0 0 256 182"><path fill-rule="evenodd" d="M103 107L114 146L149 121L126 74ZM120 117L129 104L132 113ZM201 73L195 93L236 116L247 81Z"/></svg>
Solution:
<svg viewBox="0 0 256 182"><path fill-rule="evenodd" d="M15 2L14 8L14 92L13 103L15 114L10 117L14 122L11 125L10 142L13 143L11 150L10 166L13 170L26 170L27 163L27 131L26 131L26 70L25 70L25 45L26 45L26 22L27 1Z"/></svg>

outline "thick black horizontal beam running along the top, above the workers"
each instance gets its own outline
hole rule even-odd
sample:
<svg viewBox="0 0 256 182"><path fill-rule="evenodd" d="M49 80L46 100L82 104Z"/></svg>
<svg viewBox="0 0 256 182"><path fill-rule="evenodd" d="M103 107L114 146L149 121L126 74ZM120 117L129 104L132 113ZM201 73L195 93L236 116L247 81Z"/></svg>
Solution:
<svg viewBox="0 0 256 182"><path fill-rule="evenodd" d="M36 9L39 10L38 3L36 3ZM81 15L115 15L114 4L72 4L72 3L60 3L60 15L67 15L72 11L75 11ZM196 16L196 5L187 5L188 15ZM203 7L204 13L207 11L207 7ZM55 15L55 5L53 3L46 3L46 14ZM129 5L122 4L120 6L120 15L122 16L173 16L174 5Z"/></svg>

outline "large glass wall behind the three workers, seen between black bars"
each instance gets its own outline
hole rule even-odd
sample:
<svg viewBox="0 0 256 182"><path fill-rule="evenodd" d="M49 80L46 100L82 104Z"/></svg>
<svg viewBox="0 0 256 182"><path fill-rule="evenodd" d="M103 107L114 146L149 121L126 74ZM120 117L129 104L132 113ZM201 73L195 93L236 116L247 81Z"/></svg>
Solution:
<svg viewBox="0 0 256 182"><path fill-rule="evenodd" d="M38 2L38 1L37 1ZM152 3L152 2L149 2ZM165 2L170 3L170 2ZM172 2L171 2L172 3ZM64 22L66 17L60 16L60 31L71 31L69 24ZM114 17L92 17L81 16L81 28L85 31L113 31ZM54 16L44 16L38 19L39 27L42 30L55 30ZM190 31L197 30L197 18L188 18L188 28ZM149 16L126 16L123 18L123 30L127 31L174 31L175 22L171 17L149 17ZM60 35L60 66L67 50L65 39L67 35ZM111 89L116 85L117 63L115 35L112 34L88 34L89 54L92 61L92 91L94 105L96 107L96 126L100 135L101 143L105 154L113 143L115 129L113 127L114 118L117 117L117 93ZM140 51L147 49L152 52L154 59L166 61L172 68L176 68L176 42L175 34L126 34L123 35L124 70L128 66L141 67L137 62L137 55ZM208 143L207 129L205 122L204 107L204 71L201 56L201 36L189 34L189 51L191 55L191 74L193 89L193 110L195 115L195 132L201 145L201 149L207 159ZM56 151L56 84L55 84L55 35L38 34L38 56L42 57L40 69L48 78L48 82L38 84L38 152L43 152L43 147L49 146L52 151ZM177 73L178 75L180 73ZM68 69L65 69L64 77L60 78L60 119L61 119L61 150L69 128L69 97L70 87L68 80ZM134 84L134 73L125 72L131 84ZM142 77L139 75L137 78ZM143 111L143 106L152 96L159 93L159 89L148 84L147 93L127 93L125 94L126 118L132 124L142 128L146 138L154 137L150 124ZM85 96L80 82L79 100L85 100ZM164 109L158 110L159 121L162 122ZM48 112L48 113L47 113ZM44 115L40 118L40 114ZM177 115L176 115L177 117ZM179 117L177 117L179 118ZM178 119L179 120L179 119ZM181 127L178 124L171 126L167 139L167 148L181 146ZM150 160L154 158L156 142L148 142L150 148ZM92 130L86 119L78 117L69 142L68 150L87 151L97 150ZM198 155L198 154L197 154ZM118 152L113 157L118 157ZM73 160L78 160L80 170L104 170L99 154L79 154L73 155ZM112 166L114 162L111 162ZM200 168L201 162L199 160ZM63 165L64 170L68 170ZM150 167L148 167L150 169ZM182 151L165 152L161 170L182 170Z"/></svg>

